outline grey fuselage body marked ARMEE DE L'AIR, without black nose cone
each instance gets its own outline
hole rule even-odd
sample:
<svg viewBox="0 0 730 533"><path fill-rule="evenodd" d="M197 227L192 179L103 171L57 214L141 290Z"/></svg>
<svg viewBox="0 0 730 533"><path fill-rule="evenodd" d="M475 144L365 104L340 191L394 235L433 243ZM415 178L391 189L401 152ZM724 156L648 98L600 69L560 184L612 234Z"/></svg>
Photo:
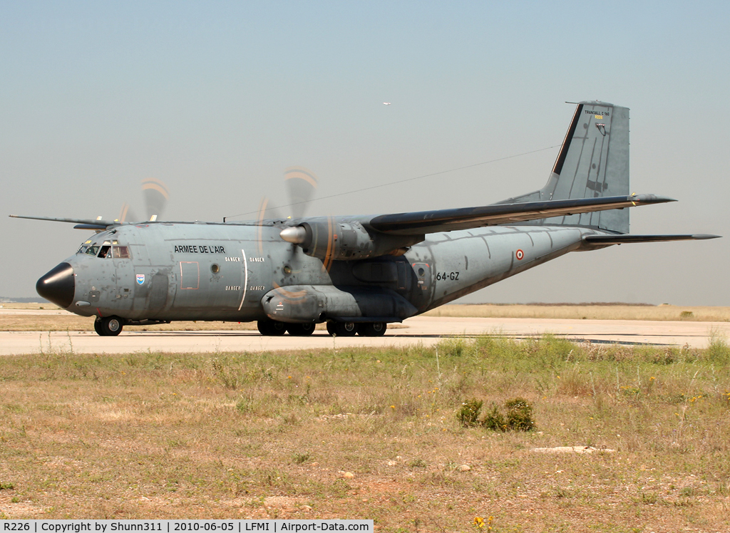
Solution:
<svg viewBox="0 0 730 533"><path fill-rule="evenodd" d="M415 315L577 250L587 234L601 234L566 226L495 226L429 234L399 257L322 261L283 242L280 231L207 223L102 231L65 261L74 275L67 309L130 321L257 321L266 318L261 300L269 291L287 294L289 287L313 285L397 294L412 305L406 314ZM111 249L101 257L96 250L104 245Z"/></svg>

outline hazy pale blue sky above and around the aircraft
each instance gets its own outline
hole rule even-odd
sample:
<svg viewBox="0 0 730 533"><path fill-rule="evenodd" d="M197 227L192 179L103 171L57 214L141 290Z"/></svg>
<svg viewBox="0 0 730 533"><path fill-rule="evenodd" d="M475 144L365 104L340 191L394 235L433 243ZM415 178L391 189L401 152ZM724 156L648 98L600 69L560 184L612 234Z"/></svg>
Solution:
<svg viewBox="0 0 730 533"><path fill-rule="evenodd" d="M143 212L157 177L165 218L220 220L282 198L291 165L353 191L558 145L563 102L601 99L631 107L634 190L680 200L631 231L728 237L569 254L470 300L730 305L728 20L726 2L4 1L0 296L34 296L85 239L10 213ZM541 187L556 153L310 214L488 204Z"/></svg>

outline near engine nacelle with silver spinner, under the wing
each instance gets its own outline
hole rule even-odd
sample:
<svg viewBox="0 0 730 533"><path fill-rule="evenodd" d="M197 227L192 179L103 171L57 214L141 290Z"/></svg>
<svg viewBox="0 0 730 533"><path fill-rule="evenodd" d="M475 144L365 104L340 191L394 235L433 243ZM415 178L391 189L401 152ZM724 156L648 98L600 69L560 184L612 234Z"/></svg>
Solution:
<svg viewBox="0 0 730 533"><path fill-rule="evenodd" d="M308 221L281 231L287 242L299 245L307 256L328 260L363 259L402 255L409 246L423 241L423 235L389 235L368 231L358 222L331 219Z"/></svg>

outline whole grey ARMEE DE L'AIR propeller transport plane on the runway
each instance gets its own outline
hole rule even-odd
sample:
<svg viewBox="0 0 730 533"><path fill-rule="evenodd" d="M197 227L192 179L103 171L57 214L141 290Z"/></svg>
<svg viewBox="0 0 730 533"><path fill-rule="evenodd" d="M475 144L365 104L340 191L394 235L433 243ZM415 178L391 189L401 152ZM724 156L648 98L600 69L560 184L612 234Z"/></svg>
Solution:
<svg viewBox="0 0 730 533"><path fill-rule="evenodd" d="M673 201L629 193L629 109L583 101L548 183L483 207L223 223L20 218L96 231L36 288L95 317L100 335L195 320L378 336L568 252L717 237L629 234L629 207Z"/></svg>

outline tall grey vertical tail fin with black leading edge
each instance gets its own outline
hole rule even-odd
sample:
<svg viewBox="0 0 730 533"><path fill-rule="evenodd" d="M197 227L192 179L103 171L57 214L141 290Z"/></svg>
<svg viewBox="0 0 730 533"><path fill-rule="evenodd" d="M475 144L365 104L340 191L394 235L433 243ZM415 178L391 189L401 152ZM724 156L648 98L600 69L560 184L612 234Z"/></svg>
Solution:
<svg viewBox="0 0 730 533"><path fill-rule="evenodd" d="M629 191L629 108L582 101L565 136L548 183L500 204L626 196ZM588 212L535 221L629 233L629 210Z"/></svg>

